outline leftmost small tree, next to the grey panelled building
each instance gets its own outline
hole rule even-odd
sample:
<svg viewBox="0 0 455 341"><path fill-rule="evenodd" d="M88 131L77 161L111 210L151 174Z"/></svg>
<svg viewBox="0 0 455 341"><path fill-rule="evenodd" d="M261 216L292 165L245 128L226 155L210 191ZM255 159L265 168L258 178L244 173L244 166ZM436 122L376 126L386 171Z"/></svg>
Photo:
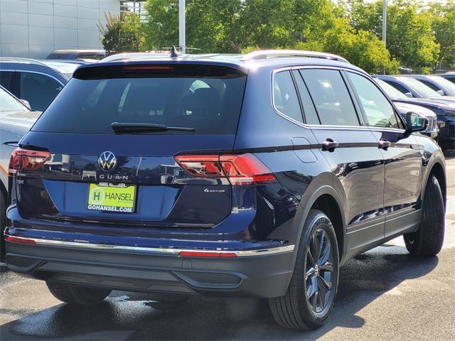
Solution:
<svg viewBox="0 0 455 341"><path fill-rule="evenodd" d="M139 16L126 13L123 20L117 15L105 14L105 25L98 25L102 34L102 45L108 54L134 52L144 43L144 32Z"/></svg>

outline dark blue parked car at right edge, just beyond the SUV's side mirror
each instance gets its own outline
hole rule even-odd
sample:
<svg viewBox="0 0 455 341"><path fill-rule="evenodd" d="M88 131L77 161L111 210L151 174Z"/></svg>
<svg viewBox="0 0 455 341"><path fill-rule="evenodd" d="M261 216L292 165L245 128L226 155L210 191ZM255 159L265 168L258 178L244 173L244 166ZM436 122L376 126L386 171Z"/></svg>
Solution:
<svg viewBox="0 0 455 341"><path fill-rule="evenodd" d="M378 85L384 90L395 104L415 104L432 110L437 114L437 126L439 128L438 144L443 149L455 148L455 103L446 101L447 97L415 98L392 87L389 83L375 78ZM429 126L432 126L430 123ZM428 130L428 128L427 128Z"/></svg>

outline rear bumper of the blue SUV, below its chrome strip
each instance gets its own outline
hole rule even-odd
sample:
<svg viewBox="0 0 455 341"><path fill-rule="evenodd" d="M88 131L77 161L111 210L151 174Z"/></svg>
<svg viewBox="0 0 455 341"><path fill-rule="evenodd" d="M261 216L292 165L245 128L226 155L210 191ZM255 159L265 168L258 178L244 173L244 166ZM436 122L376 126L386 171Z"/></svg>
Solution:
<svg viewBox="0 0 455 341"><path fill-rule="evenodd" d="M6 265L33 278L112 290L269 298L286 293L293 250L285 245L206 258L175 249L6 242Z"/></svg>

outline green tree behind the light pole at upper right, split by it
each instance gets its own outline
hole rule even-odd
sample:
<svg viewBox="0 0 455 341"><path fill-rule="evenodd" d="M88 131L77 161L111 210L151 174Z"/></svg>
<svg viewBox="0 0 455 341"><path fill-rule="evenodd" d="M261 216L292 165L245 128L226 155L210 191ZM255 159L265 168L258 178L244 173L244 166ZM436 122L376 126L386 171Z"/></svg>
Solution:
<svg viewBox="0 0 455 341"><path fill-rule="evenodd" d="M350 24L378 38L382 31L382 1L350 0ZM387 6L387 49L392 57L417 72L437 64L439 44L432 32L432 16L415 0L397 0Z"/></svg>

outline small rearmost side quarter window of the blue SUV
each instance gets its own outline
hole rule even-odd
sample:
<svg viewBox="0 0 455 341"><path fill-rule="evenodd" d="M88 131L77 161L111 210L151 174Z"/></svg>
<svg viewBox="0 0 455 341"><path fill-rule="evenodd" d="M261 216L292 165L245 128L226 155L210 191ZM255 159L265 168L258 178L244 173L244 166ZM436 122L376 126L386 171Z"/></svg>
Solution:
<svg viewBox="0 0 455 341"><path fill-rule="evenodd" d="M299 97L289 71L277 72L273 81L273 99L275 108L291 119L304 122L301 116Z"/></svg>

